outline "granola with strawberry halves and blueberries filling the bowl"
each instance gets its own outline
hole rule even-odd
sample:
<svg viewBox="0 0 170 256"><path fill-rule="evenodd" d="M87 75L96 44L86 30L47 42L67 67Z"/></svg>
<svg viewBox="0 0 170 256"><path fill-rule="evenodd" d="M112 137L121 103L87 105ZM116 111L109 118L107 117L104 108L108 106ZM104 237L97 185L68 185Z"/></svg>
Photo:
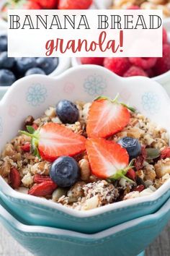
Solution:
<svg viewBox="0 0 170 256"><path fill-rule="evenodd" d="M0 174L19 192L76 210L151 195L170 178L169 135L117 98L60 101L8 142Z"/></svg>

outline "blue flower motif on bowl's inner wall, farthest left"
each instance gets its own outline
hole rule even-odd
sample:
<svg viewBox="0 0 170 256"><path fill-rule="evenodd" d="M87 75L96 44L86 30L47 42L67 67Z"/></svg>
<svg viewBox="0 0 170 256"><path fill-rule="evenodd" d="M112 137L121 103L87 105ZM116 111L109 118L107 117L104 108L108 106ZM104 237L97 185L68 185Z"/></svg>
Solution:
<svg viewBox="0 0 170 256"><path fill-rule="evenodd" d="M47 96L48 94L45 86L38 83L28 88L26 100L30 105L36 107L40 106L41 103L44 103Z"/></svg>

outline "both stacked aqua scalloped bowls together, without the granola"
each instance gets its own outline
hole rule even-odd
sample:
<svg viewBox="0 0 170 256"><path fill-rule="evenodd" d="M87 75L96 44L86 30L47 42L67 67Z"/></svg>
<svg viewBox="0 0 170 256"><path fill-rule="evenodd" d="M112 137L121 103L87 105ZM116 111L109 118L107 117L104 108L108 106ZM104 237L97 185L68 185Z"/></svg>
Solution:
<svg viewBox="0 0 170 256"><path fill-rule="evenodd" d="M0 151L21 129L25 116L38 117L62 99L89 102L117 93L120 101L170 133L169 97L156 81L122 78L103 67L84 65L58 77L24 77L9 88L0 102ZM151 96L148 103L143 101L146 95ZM18 192L1 177L0 182L1 221L33 255L143 255L170 219L170 179L151 195L86 211Z"/></svg>

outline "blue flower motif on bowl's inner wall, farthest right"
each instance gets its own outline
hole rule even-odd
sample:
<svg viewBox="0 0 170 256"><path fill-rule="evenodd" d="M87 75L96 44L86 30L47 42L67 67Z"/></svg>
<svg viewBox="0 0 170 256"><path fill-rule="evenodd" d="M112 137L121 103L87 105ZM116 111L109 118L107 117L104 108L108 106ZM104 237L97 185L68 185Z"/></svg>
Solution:
<svg viewBox="0 0 170 256"><path fill-rule="evenodd" d="M153 115L158 113L161 101L156 93L150 91L143 94L142 105L145 111L148 111L149 114Z"/></svg>

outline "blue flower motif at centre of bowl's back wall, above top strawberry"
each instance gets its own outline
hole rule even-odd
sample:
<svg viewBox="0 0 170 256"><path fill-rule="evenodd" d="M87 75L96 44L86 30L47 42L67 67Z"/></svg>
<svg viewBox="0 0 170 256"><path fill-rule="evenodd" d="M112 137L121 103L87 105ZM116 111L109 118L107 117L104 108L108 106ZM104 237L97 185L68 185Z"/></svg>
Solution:
<svg viewBox="0 0 170 256"><path fill-rule="evenodd" d="M91 96L102 95L107 89L107 82L100 75L90 75L84 81L84 89Z"/></svg>

